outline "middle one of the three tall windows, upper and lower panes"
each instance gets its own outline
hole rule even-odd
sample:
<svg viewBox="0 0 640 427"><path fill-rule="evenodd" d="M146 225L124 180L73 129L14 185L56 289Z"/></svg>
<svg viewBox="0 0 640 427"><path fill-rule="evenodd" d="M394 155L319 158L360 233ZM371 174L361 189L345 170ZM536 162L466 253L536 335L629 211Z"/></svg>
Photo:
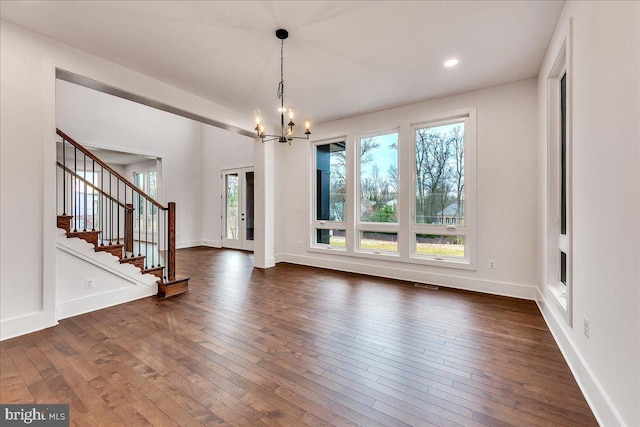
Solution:
<svg viewBox="0 0 640 427"><path fill-rule="evenodd" d="M397 253L398 132L361 137L358 157L358 250Z"/></svg>

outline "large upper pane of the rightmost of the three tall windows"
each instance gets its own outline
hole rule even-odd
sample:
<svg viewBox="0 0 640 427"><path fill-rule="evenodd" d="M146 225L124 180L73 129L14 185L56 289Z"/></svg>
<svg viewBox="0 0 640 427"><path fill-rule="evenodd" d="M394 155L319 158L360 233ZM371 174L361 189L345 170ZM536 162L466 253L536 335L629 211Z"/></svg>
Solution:
<svg viewBox="0 0 640 427"><path fill-rule="evenodd" d="M464 225L464 122L416 129L416 223Z"/></svg>

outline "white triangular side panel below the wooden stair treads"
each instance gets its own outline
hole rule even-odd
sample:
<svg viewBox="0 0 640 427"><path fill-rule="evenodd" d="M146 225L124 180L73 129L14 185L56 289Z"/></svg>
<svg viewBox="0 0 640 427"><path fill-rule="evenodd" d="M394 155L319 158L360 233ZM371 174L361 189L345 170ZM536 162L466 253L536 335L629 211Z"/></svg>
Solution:
<svg viewBox="0 0 640 427"><path fill-rule="evenodd" d="M110 253L95 251L83 239L67 238L62 229L58 229L56 248L58 319L145 298L158 291L158 278L153 274L143 274L138 267L120 263ZM87 288L87 279L93 279L95 287Z"/></svg>

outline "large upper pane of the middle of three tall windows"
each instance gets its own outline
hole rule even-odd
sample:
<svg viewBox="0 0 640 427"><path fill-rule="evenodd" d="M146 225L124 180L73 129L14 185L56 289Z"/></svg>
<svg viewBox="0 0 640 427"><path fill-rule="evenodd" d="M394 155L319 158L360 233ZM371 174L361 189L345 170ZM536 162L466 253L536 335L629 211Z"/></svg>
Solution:
<svg viewBox="0 0 640 427"><path fill-rule="evenodd" d="M398 134L360 140L360 220L398 222Z"/></svg>

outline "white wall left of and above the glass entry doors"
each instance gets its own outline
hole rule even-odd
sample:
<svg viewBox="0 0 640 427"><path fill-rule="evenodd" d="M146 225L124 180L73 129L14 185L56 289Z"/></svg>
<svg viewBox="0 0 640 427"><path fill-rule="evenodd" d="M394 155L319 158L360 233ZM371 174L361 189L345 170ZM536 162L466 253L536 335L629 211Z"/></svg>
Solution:
<svg viewBox="0 0 640 427"><path fill-rule="evenodd" d="M206 246L222 244L222 182L224 169L253 166L253 138L213 126L202 127L202 236Z"/></svg>

